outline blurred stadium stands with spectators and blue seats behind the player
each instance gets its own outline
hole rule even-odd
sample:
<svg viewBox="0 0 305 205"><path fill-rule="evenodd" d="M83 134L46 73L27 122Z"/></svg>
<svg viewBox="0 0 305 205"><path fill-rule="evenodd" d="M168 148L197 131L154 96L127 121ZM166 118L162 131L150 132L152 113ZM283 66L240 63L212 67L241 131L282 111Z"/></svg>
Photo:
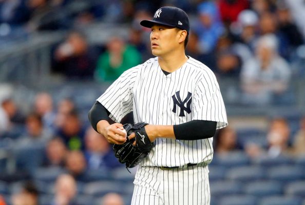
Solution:
<svg viewBox="0 0 305 205"><path fill-rule="evenodd" d="M87 114L153 57L139 22L161 6L188 13L225 102L211 204L305 204L305 1L0 0L1 205L130 204L136 170Z"/></svg>

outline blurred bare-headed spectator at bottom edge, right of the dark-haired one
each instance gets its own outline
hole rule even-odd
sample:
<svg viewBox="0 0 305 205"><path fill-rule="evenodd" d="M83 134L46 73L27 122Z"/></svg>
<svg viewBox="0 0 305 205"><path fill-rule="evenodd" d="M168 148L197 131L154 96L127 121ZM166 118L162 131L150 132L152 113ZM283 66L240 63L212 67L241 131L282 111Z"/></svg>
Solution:
<svg viewBox="0 0 305 205"><path fill-rule="evenodd" d="M55 182L55 196L52 205L75 205L72 203L77 194L77 183L69 174L60 175Z"/></svg>

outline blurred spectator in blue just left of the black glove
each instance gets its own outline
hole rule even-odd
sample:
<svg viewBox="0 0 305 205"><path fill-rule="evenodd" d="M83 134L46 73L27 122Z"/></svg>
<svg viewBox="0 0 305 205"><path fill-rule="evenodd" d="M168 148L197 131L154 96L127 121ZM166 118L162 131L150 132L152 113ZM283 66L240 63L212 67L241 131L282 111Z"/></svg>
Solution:
<svg viewBox="0 0 305 205"><path fill-rule="evenodd" d="M93 130L92 127L86 131L85 143L85 158L88 169L113 169L122 166L115 157L111 145L103 135Z"/></svg>

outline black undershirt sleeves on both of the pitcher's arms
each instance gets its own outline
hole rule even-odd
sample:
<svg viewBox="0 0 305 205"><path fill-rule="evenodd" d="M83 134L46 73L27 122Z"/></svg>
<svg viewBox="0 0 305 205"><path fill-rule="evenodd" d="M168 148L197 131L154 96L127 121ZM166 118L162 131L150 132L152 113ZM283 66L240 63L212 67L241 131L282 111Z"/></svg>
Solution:
<svg viewBox="0 0 305 205"><path fill-rule="evenodd" d="M166 72L166 71L165 71ZM98 101L92 106L88 113L89 121L94 130L100 120L109 120L110 112ZM216 131L216 121L192 120L180 125L174 125L176 139L197 140L213 137Z"/></svg>

